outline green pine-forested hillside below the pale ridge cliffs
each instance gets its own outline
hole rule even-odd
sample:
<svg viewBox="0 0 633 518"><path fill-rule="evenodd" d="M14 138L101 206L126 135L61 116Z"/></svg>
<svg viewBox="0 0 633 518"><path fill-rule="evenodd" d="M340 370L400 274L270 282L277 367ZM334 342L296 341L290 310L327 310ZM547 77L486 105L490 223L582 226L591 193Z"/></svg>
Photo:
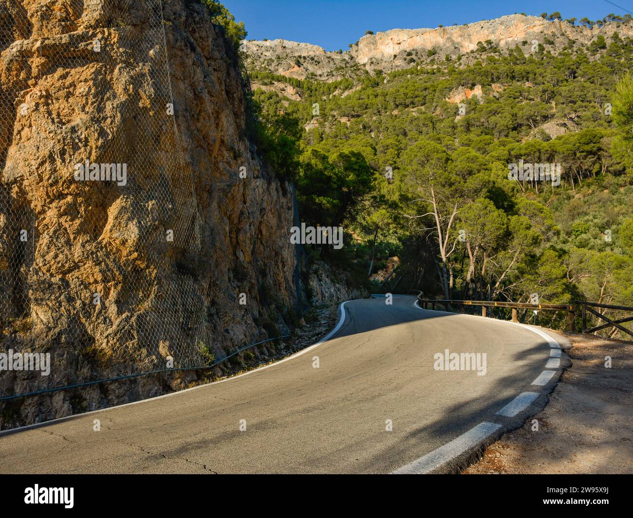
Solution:
<svg viewBox="0 0 633 518"><path fill-rule="evenodd" d="M250 71L302 221L347 231L318 253L364 280L397 256L384 288L429 297L633 305L633 41L473 54L330 83ZM509 179L521 162L560 164L560 185Z"/></svg>

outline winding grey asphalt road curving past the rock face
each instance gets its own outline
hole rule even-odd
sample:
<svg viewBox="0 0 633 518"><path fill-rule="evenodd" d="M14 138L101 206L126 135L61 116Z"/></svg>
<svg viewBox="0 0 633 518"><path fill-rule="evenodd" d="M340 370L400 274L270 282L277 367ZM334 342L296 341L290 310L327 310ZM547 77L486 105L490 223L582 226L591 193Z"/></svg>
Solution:
<svg viewBox="0 0 633 518"><path fill-rule="evenodd" d="M414 302L404 295L392 305L347 302L334 337L306 354L168 397L1 435L0 472L389 473L481 422L500 424L500 435L544 405L561 372L555 368L546 385L532 385L555 355L546 339ZM485 352L486 375L436 371L434 355L446 349ZM518 416L495 415L530 391L539 397ZM93 431L94 419L101 431Z"/></svg>

